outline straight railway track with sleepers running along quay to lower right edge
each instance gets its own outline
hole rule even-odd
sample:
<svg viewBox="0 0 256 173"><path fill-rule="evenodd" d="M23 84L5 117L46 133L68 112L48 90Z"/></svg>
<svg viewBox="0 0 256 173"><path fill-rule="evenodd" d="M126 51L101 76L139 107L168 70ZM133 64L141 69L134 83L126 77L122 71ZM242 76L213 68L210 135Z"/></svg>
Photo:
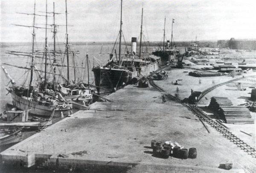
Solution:
<svg viewBox="0 0 256 173"><path fill-rule="evenodd" d="M165 92L165 90L162 89L160 86L157 86L157 84L155 84L151 78L148 78L148 81L149 81L149 84L151 84L151 86L153 86L160 92ZM226 83L226 82L224 82L224 83ZM218 86L220 86L220 85L218 85ZM244 142L243 140L241 140L240 138L235 136L226 127L219 124L217 121L212 120L212 118L209 118L208 115L205 114L201 108L195 107L195 105L192 105L192 104L182 103L182 101L179 98L177 98L171 94L164 94L164 95L166 96L167 99L175 101L175 102L180 103L183 106L185 106L188 110L192 111L199 119L201 119L202 121L205 121L207 124L209 124L215 130L217 130L219 133L221 133L225 138L230 140L233 144L236 144L236 146L239 147L241 150L243 150L245 153L249 154L253 158L256 158L255 148L250 147L250 145L246 144L246 142Z"/></svg>

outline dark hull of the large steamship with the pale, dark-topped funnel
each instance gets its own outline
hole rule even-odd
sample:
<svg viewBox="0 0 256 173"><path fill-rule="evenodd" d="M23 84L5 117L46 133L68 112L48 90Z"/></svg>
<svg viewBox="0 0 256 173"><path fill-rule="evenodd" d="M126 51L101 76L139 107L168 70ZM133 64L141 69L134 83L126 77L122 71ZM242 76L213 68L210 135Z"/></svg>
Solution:
<svg viewBox="0 0 256 173"><path fill-rule="evenodd" d="M143 75L147 76L151 72L159 69L159 64L156 62L151 63L147 66L141 67L140 71L129 71L122 69L109 69L103 67L93 68L95 85L105 88L107 91L113 90L113 88L119 89L123 83L128 84L131 82L131 79L138 76ZM99 88L97 89L99 92ZM106 92L101 89L102 92Z"/></svg>

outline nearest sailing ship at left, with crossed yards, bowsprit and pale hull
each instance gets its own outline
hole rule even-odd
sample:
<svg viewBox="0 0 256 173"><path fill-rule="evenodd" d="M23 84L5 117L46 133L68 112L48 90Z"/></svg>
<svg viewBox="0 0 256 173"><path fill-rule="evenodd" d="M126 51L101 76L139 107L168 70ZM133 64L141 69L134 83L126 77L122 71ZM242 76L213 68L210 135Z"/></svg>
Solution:
<svg viewBox="0 0 256 173"><path fill-rule="evenodd" d="M26 13L21 13L26 14ZM25 25L16 25L16 26L25 26L33 29L32 32L32 52L7 52L11 55L22 55L29 56L31 58L30 68L23 66L15 66L12 64L3 63L9 66L15 66L21 69L28 69L30 71L30 81L29 86L19 86L15 83L15 81L11 78L6 68L2 66L3 71L6 76L10 79L11 85L6 89L12 96L12 103L15 107L20 110L30 110L30 113L33 115L46 116L46 117L59 117L61 114L68 114L70 110L72 110L71 101L68 99L64 99L59 92L54 92L49 89L49 83L47 82L47 74L53 75L55 78L55 69L54 73L47 71L47 61L52 60L52 58L48 57L48 48L47 48L47 3L46 3L46 24L45 28L35 26L35 16L43 16L42 14L35 13L35 3L34 3L34 13L28 14L33 15L33 25L25 26ZM37 29L45 29L45 51L44 57L36 56L35 50L35 28ZM55 52L54 52L55 53ZM40 54L39 54L40 55ZM45 61L44 70L38 69L35 66L35 58L43 58ZM56 62L55 58L53 59L53 65ZM38 78L36 82L35 73L38 72ZM44 73L44 78L41 77L42 73Z"/></svg>

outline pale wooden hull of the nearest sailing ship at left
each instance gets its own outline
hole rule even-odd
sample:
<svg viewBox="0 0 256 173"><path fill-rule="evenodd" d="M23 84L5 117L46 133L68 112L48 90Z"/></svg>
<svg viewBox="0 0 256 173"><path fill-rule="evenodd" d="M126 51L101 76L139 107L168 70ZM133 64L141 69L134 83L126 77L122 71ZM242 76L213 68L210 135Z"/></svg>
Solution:
<svg viewBox="0 0 256 173"><path fill-rule="evenodd" d="M14 93L11 93L11 95L13 105L20 110L30 110L30 114L43 117L50 117L52 115L54 107L39 105L38 102L29 101L25 98L15 95ZM57 107L57 109L55 109L54 111L53 117L61 117L61 112L64 115L67 115L70 110L70 107Z"/></svg>

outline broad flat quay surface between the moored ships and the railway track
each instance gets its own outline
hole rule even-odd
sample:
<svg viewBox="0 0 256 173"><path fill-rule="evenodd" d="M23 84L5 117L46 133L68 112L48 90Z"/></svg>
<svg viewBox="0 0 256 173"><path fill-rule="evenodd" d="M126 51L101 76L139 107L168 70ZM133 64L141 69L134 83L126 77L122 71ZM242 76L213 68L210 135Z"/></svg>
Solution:
<svg viewBox="0 0 256 173"><path fill-rule="evenodd" d="M182 104L169 100L162 104L161 95L151 86L126 86L108 95L113 102L96 102L90 110L80 110L3 151L2 162L56 169L112 167L131 173L256 172L255 158L206 124L208 133ZM197 158L154 157L153 139L195 147ZM79 151L84 153L75 154ZM218 168L226 161L233 162L232 170Z"/></svg>

